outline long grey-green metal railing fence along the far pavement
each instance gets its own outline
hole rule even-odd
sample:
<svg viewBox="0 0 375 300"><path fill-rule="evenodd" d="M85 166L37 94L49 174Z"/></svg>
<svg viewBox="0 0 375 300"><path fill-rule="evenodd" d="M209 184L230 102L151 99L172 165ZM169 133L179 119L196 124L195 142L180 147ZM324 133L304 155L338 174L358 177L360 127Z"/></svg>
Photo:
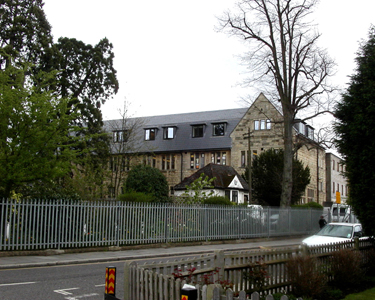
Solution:
<svg viewBox="0 0 375 300"><path fill-rule="evenodd" d="M0 251L311 234L319 209L0 200Z"/></svg>

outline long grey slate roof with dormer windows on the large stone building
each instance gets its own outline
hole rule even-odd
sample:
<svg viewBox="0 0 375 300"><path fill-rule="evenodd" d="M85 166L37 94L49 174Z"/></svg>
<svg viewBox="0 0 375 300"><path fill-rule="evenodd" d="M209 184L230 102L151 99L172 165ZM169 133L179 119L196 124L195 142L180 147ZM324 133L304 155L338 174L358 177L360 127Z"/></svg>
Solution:
<svg viewBox="0 0 375 300"><path fill-rule="evenodd" d="M141 124L136 135L135 152L179 152L179 151L204 151L216 149L231 149L232 141L230 134L247 112L248 108L236 108L216 111L183 113L173 115L151 116L142 118L130 118L129 125L134 122ZM104 121L107 132L113 131L114 127L121 128L123 120ZM213 136L213 124L225 123L224 136ZM117 124L117 125L114 125ZM204 124L203 137L192 137L192 125ZM174 126L176 134L173 139L163 139L163 128ZM155 140L144 139L145 129L156 128Z"/></svg>

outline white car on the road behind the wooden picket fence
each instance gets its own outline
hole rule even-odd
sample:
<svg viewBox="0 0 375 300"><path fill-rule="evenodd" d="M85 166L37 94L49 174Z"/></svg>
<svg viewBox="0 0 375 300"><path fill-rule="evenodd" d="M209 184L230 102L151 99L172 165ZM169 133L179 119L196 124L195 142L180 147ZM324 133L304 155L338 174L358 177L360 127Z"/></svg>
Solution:
<svg viewBox="0 0 375 300"><path fill-rule="evenodd" d="M359 223L329 223L316 234L302 241L307 246L318 246L337 242L351 241L362 237L362 225Z"/></svg>

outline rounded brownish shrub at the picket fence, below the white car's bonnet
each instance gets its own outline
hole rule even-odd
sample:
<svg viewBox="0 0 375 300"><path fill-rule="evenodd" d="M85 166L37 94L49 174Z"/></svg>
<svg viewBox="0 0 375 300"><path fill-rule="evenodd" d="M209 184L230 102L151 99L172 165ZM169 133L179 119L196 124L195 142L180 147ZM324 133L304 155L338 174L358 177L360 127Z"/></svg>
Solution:
<svg viewBox="0 0 375 300"><path fill-rule="evenodd" d="M287 262L293 294L297 297L319 298L327 285L327 276L320 271L319 262L310 256L297 256Z"/></svg>

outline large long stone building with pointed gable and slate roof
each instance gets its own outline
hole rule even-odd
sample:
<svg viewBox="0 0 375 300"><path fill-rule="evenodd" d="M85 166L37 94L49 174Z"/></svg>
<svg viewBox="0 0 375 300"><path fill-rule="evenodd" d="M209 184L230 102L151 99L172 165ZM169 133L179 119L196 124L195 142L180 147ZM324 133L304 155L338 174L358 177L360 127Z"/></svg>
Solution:
<svg viewBox="0 0 375 300"><path fill-rule="evenodd" d="M253 157L283 148L282 114L263 94L249 108L112 120L105 122L105 129L112 131L114 156L124 158L121 176L133 164L149 164L166 176L171 194L175 185L210 163L243 174L249 153ZM314 141L311 126L298 122L294 130L296 156L311 173L301 202L323 203L324 148ZM120 147L123 144L131 146Z"/></svg>

